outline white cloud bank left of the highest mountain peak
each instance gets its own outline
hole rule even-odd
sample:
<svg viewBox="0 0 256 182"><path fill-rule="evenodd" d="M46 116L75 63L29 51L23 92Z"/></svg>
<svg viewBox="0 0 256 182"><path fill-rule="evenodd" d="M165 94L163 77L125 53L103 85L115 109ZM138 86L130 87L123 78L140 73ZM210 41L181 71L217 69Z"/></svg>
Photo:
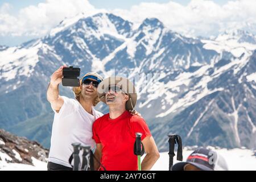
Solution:
<svg viewBox="0 0 256 182"><path fill-rule="evenodd" d="M9 9L7 3L0 7L1 36L42 36L65 17L81 12L92 15L98 11L86 0L47 0L21 9L18 15L11 15Z"/></svg>

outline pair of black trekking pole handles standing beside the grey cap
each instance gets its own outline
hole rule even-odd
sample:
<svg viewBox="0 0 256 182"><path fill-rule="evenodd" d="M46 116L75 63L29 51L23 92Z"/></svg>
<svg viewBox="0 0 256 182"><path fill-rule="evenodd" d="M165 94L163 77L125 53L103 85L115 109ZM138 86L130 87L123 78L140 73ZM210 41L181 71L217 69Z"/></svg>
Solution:
<svg viewBox="0 0 256 182"><path fill-rule="evenodd" d="M182 156L182 140L181 137L179 135L168 135L169 137L169 171L172 171L172 166L174 165L174 148L175 148L175 144L178 144L178 148L177 148L177 160L182 161L183 160L183 156Z"/></svg>

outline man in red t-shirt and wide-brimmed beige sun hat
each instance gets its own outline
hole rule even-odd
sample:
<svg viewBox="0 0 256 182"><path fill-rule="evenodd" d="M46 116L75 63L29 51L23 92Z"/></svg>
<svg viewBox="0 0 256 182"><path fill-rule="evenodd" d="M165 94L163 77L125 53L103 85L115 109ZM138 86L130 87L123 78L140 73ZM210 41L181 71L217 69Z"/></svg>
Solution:
<svg viewBox="0 0 256 182"><path fill-rule="evenodd" d="M109 77L98 86L98 96L109 106L109 113L93 123L94 155L107 171L135 171L138 158L134 154L136 133L142 133L146 156L142 170L150 170L159 158L158 148L144 119L131 115L137 94L133 84L123 77ZM98 162L94 168L103 170Z"/></svg>

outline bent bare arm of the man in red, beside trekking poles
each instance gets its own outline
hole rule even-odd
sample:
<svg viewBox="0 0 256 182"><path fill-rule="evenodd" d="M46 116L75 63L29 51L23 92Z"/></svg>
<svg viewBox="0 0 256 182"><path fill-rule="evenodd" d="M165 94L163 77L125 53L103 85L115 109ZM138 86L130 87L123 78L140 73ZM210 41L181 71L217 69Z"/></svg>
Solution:
<svg viewBox="0 0 256 182"><path fill-rule="evenodd" d="M159 159L160 154L153 137L145 137L142 140L142 143L146 152L146 156L141 163L141 169L142 171L148 171L154 166L156 160Z"/></svg>

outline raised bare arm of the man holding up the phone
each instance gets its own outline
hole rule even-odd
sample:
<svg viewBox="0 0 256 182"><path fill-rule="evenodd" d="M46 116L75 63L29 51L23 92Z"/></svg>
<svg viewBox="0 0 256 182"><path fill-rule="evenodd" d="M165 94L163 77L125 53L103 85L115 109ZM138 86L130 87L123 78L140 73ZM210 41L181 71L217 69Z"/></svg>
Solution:
<svg viewBox="0 0 256 182"><path fill-rule="evenodd" d="M59 96L59 84L63 77L62 70L66 66L61 66L51 76L51 81L47 89L47 100L51 103L52 109L59 112L61 106L64 104L64 100Z"/></svg>

